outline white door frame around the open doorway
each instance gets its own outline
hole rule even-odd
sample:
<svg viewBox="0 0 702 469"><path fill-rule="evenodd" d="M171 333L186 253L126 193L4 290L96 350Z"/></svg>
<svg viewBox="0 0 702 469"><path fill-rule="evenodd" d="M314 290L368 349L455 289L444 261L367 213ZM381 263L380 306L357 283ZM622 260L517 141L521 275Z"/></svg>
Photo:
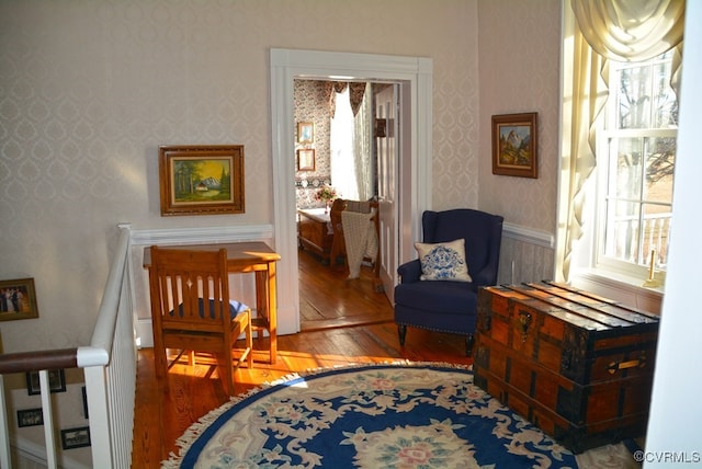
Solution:
<svg viewBox="0 0 702 469"><path fill-rule="evenodd" d="M278 333L299 332L297 237L295 217L295 129L293 82L296 78L369 81L399 81L409 87L410 174L412 191L401 190L403 204L411 220L399 220L399 260L411 256L404 242L419 239L421 214L431 208L432 159L432 60L421 57L316 50L271 49L271 150L273 161L273 217L275 251L281 255L276 268ZM408 178L407 178L408 176ZM400 181L403 184L404 181ZM409 203L408 203L409 201ZM405 210L400 210L405 211ZM401 217L401 215L400 215Z"/></svg>

